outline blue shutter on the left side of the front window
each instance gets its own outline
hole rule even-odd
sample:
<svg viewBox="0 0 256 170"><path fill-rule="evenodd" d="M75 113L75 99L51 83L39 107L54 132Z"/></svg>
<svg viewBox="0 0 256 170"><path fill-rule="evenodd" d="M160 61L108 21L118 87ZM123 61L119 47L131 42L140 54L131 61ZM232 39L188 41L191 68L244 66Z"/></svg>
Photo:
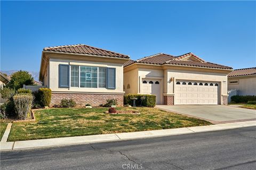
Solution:
<svg viewBox="0 0 256 170"><path fill-rule="evenodd" d="M69 87L69 65L67 64L59 65L59 87L60 88Z"/></svg>

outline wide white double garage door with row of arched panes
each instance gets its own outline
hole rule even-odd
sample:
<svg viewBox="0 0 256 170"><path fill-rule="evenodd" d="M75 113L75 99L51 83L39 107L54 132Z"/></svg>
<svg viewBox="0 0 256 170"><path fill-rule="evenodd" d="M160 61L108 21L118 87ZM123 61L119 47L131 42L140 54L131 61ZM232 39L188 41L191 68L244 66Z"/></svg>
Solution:
<svg viewBox="0 0 256 170"><path fill-rule="evenodd" d="M218 82L177 80L175 103L180 105L218 105Z"/></svg>

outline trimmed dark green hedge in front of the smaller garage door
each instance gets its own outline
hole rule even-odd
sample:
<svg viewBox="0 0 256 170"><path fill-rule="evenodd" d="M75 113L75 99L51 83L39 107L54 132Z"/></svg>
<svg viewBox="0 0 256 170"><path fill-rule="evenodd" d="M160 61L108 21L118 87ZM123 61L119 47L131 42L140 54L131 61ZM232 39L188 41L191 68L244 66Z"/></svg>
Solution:
<svg viewBox="0 0 256 170"><path fill-rule="evenodd" d="M135 100L136 106L145 106L145 107L155 107L156 106L156 96L155 95L140 95L140 94L124 95L124 104L129 104L129 105L133 106L133 98L137 98L137 100Z"/></svg>

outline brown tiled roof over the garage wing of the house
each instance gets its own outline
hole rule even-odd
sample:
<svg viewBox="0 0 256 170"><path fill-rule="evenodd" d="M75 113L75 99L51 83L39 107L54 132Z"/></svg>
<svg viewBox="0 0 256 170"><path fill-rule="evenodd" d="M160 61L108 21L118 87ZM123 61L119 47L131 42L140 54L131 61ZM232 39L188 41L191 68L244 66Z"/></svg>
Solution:
<svg viewBox="0 0 256 170"><path fill-rule="evenodd" d="M199 61L196 62L196 61L181 60L182 58L185 58L187 56L194 56ZM232 69L231 67L228 67L228 66L205 62L202 58L199 58L198 56L194 55L193 53L187 53L187 54L183 54L180 56L172 56L169 54L159 53L159 54L141 58L136 61L128 61L124 64L124 67L131 65L133 63L146 63L146 64L158 64L158 65L174 64L174 65L209 67L209 68L215 68L215 69Z"/></svg>

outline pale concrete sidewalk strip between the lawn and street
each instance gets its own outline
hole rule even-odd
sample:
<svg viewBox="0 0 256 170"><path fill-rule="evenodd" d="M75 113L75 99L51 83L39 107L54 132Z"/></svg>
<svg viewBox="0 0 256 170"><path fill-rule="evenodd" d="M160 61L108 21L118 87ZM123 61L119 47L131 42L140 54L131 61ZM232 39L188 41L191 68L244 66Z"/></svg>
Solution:
<svg viewBox="0 0 256 170"><path fill-rule="evenodd" d="M165 129L165 130L154 130L154 131L99 134L99 135L86 135L81 137L65 137L65 138L7 142L7 137L10 133L10 128L11 128L11 125L9 124L4 133L4 137L3 137L4 140L1 140L0 142L0 149L1 151L6 151L6 150L45 148L45 147L59 147L59 146L67 146L67 145L77 145L82 143L85 144L85 143L94 143L94 142L121 141L121 140L129 140L129 139L162 137L166 135L218 131L218 130L243 128L248 126L256 126L256 121L215 124L215 125L208 125L208 126L195 126L190 128L177 128L177 129Z"/></svg>

